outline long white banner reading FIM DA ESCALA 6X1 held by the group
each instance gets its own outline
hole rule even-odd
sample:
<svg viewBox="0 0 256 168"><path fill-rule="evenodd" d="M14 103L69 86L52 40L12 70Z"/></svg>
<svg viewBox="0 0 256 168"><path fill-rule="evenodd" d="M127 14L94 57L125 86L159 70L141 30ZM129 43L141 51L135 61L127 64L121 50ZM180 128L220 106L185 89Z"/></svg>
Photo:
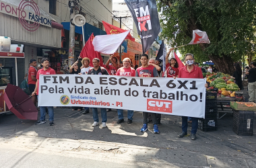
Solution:
<svg viewBox="0 0 256 168"><path fill-rule="evenodd" d="M116 108L204 117L205 79L40 75L38 106Z"/></svg>

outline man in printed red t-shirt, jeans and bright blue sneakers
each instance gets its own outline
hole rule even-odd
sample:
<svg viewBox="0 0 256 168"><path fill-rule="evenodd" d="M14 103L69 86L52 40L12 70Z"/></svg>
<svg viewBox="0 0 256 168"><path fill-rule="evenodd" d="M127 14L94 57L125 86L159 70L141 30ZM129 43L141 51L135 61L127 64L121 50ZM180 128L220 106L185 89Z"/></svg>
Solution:
<svg viewBox="0 0 256 168"><path fill-rule="evenodd" d="M135 77L158 77L158 71L152 65L148 65L148 55L142 54L140 57L141 67L136 69ZM151 113L153 121L153 132L158 134L158 125L156 121L156 113ZM148 112L143 112L143 126L141 132L146 132L148 130Z"/></svg>

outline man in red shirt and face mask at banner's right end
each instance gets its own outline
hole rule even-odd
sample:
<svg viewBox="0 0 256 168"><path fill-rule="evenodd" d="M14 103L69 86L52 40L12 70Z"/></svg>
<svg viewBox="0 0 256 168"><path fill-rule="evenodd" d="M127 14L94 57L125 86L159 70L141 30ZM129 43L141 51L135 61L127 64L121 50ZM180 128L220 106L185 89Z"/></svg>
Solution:
<svg viewBox="0 0 256 168"><path fill-rule="evenodd" d="M203 79L203 73L201 69L195 65L193 65L195 59L193 54L187 53L185 56L185 63L187 64L185 67L179 69L179 78L199 78ZM175 77L174 77L175 78ZM205 87L207 87L207 83L205 83ZM182 132L179 134L179 138L183 138L187 135L187 116L182 116ZM198 127L198 118L191 117L192 120L192 128L191 128L191 140L195 140L197 136L197 127Z"/></svg>

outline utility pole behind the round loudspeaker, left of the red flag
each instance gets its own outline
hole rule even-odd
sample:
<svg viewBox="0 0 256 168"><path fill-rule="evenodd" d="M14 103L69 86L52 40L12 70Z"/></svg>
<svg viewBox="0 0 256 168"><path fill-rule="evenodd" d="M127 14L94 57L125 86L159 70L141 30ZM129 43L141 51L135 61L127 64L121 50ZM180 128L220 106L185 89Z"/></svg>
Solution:
<svg viewBox="0 0 256 168"><path fill-rule="evenodd" d="M70 7L70 29L69 29L69 68L73 65L75 54L75 25L72 23L75 16L75 3L69 0Z"/></svg>

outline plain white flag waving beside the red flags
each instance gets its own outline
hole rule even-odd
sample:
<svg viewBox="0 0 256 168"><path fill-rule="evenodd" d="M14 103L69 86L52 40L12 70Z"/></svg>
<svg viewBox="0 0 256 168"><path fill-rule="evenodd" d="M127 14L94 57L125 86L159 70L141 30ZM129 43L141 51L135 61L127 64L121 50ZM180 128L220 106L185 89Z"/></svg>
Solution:
<svg viewBox="0 0 256 168"><path fill-rule="evenodd" d="M94 37L92 44L94 45L94 50L103 54L114 54L119 46L125 40L126 36L129 34L130 30L120 34L106 34L98 35Z"/></svg>

